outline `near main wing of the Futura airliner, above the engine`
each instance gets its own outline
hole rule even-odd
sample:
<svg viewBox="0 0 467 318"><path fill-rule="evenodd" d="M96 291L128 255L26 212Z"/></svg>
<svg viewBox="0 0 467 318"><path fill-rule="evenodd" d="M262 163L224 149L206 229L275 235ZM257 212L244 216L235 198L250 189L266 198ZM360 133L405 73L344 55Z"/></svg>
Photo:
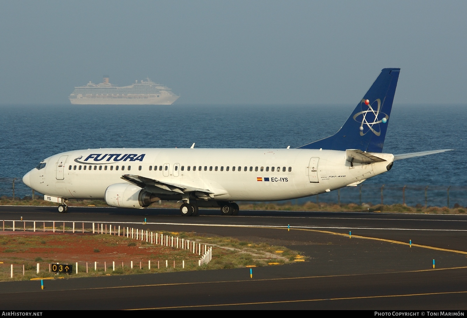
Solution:
<svg viewBox="0 0 467 318"><path fill-rule="evenodd" d="M200 189L200 188L195 188L195 187L190 187L182 184L177 184L177 183L171 183L171 182L163 182L151 178L146 178L142 177L139 175L135 174L124 174L120 177L123 180L127 180L128 182L133 183L134 185L138 187L157 187L166 191L171 191L171 192L176 192L179 194L187 194L189 192L195 192L195 195L203 198L203 197L214 197L214 194L220 195L220 194L226 194L225 193L214 193L208 189ZM157 193L157 192L156 192ZM162 194L166 194L166 192L162 192Z"/></svg>

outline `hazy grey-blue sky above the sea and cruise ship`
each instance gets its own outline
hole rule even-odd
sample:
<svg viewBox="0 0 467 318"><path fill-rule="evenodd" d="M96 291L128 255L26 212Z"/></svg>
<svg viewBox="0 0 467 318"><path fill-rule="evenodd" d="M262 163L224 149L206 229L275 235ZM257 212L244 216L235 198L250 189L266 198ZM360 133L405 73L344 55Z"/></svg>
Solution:
<svg viewBox="0 0 467 318"><path fill-rule="evenodd" d="M177 104L465 103L467 1L1 1L0 104L69 104L104 74Z"/></svg>

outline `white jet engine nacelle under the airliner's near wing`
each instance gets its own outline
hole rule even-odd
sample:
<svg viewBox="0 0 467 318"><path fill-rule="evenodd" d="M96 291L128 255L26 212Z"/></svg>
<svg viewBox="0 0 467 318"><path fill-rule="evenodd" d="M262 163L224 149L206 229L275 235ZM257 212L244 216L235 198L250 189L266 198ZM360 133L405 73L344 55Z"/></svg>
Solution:
<svg viewBox="0 0 467 318"><path fill-rule="evenodd" d="M159 200L156 195L128 183L114 183L108 186L104 198L111 207L131 209L142 209Z"/></svg>

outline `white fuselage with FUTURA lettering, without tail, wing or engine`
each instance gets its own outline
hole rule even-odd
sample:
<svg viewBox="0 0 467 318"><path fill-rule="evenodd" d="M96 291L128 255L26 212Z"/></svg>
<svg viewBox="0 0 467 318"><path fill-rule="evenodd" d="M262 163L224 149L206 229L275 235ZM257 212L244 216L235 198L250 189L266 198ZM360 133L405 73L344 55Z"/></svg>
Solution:
<svg viewBox="0 0 467 318"><path fill-rule="evenodd" d="M289 200L386 172L394 156L376 155L387 161L351 164L344 151L313 149L101 148L51 156L23 180L37 192L64 199L103 199L107 187L129 184L120 177L133 174L209 190L209 200Z"/></svg>

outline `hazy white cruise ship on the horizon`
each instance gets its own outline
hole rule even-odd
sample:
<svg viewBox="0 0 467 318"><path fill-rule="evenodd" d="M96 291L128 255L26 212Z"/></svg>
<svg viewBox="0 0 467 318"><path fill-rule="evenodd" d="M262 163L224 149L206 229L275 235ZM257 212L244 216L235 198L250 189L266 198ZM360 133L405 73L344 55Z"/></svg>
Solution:
<svg viewBox="0 0 467 318"><path fill-rule="evenodd" d="M180 96L170 88L154 83L149 78L129 85L118 87L109 83L109 76L104 82L75 87L70 94L71 104L81 105L171 105Z"/></svg>

